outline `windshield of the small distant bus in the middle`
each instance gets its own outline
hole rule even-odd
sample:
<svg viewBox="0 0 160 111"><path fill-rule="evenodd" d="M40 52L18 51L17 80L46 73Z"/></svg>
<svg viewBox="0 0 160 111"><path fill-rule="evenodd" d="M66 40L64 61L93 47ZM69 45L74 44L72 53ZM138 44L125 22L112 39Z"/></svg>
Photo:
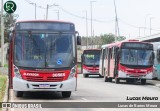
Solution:
<svg viewBox="0 0 160 111"><path fill-rule="evenodd" d="M99 65L100 51L92 51L84 53L83 64L85 65Z"/></svg>

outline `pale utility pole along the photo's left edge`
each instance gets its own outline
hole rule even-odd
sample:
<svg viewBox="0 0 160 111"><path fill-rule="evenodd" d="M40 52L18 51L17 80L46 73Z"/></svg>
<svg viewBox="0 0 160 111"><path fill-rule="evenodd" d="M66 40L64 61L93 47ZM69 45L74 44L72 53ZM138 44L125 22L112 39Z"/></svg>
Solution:
<svg viewBox="0 0 160 111"><path fill-rule="evenodd" d="M4 22L3 22L3 0L1 0L1 67L4 66Z"/></svg>

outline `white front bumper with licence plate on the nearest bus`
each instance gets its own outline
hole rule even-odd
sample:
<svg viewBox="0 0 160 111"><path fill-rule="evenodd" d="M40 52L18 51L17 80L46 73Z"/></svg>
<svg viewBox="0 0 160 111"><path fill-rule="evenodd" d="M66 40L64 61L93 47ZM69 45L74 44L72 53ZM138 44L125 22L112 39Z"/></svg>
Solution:
<svg viewBox="0 0 160 111"><path fill-rule="evenodd" d="M75 91L76 77L62 82L31 82L13 77L14 91Z"/></svg>

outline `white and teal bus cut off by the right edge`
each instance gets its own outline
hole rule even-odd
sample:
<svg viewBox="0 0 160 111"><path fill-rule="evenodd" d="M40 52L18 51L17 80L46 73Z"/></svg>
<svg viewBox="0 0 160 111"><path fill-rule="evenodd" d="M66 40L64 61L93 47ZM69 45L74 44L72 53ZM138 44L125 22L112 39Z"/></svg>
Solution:
<svg viewBox="0 0 160 111"><path fill-rule="evenodd" d="M160 42L153 42L152 44L155 54L153 79L160 80Z"/></svg>

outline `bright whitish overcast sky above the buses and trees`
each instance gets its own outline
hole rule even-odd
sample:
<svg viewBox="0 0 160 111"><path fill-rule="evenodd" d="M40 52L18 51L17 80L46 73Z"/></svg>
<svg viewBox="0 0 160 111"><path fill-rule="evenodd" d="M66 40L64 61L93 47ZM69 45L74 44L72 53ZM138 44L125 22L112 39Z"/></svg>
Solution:
<svg viewBox="0 0 160 111"><path fill-rule="evenodd" d="M7 0L4 0L4 2ZM17 4L15 14L18 20L46 18L46 7L57 4L48 10L48 20L59 19L75 23L81 36L86 36L86 11L88 35L91 35L91 0L13 0ZM115 34L114 0L92 0L92 19L94 35ZM115 0L121 36L136 38L160 32L160 0ZM39 8L41 7L41 8ZM150 31L150 26L153 30ZM146 27L146 29L144 28Z"/></svg>

